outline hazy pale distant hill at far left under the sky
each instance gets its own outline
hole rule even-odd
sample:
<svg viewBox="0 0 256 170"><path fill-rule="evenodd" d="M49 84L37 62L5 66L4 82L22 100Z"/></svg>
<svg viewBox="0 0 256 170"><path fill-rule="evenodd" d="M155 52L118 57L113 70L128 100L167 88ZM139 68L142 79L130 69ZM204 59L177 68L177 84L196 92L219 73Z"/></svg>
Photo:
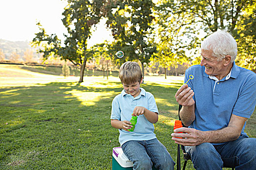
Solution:
<svg viewBox="0 0 256 170"><path fill-rule="evenodd" d="M39 58L36 48L31 47L28 41L8 41L0 39L0 49L3 51L7 60L12 52L16 52L22 57L27 49L33 51L34 58Z"/></svg>

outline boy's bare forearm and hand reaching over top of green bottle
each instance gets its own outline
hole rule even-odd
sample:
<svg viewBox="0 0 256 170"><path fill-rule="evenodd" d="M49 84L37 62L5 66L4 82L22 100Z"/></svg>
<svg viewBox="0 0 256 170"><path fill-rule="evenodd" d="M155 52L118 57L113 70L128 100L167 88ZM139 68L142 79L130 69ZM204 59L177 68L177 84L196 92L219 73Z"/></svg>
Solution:
<svg viewBox="0 0 256 170"><path fill-rule="evenodd" d="M145 118L151 122L151 123L156 123L158 122L158 113L152 112L145 107L142 106L137 106L134 108L133 111L133 116L138 116L138 115L144 115Z"/></svg>

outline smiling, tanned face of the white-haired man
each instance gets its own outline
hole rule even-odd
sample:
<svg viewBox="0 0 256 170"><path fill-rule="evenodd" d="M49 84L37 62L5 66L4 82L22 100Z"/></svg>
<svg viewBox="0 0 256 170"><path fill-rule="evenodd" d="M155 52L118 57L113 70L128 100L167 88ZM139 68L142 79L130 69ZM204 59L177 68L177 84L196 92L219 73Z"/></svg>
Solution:
<svg viewBox="0 0 256 170"><path fill-rule="evenodd" d="M224 59L218 61L217 57L212 56L213 51L202 50L202 60L200 65L205 67L205 73L217 78L225 75ZM220 79L219 79L220 80Z"/></svg>

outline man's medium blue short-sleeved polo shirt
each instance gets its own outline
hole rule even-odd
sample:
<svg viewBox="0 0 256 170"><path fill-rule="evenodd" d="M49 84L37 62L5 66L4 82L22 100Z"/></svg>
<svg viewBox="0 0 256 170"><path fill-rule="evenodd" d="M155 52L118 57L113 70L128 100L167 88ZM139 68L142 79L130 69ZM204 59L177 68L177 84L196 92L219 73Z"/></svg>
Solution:
<svg viewBox="0 0 256 170"><path fill-rule="evenodd" d="M185 73L184 82L190 74L194 76L187 83L195 92L193 99L196 104L196 118L189 127L213 131L227 127L232 114L250 118L256 105L256 73L240 68L234 62L231 74L216 81L209 78L204 69L196 65L188 68ZM241 136L247 136L245 125Z"/></svg>

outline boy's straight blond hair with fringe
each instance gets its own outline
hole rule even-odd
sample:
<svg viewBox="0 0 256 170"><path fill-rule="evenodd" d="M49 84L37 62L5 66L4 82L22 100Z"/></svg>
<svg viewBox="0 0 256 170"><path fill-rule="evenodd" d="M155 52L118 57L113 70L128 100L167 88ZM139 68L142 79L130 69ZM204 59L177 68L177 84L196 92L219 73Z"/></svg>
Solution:
<svg viewBox="0 0 256 170"><path fill-rule="evenodd" d="M122 84L130 85L141 81L141 69L136 62L127 61L119 69L119 78Z"/></svg>

